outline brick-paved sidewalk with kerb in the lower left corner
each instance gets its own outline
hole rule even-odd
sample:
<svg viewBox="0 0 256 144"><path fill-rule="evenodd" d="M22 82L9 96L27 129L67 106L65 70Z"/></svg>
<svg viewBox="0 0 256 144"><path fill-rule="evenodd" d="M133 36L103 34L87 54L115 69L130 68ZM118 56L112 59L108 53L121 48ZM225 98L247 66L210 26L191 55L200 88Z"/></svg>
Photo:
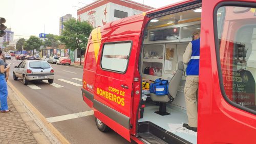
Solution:
<svg viewBox="0 0 256 144"><path fill-rule="evenodd" d="M51 143L8 86L8 107L0 113L0 143Z"/></svg>

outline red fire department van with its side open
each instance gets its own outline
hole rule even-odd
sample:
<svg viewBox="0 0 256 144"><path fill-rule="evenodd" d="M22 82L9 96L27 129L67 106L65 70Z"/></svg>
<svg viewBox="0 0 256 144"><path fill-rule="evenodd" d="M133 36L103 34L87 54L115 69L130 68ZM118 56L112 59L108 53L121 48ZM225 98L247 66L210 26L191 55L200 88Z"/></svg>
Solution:
<svg viewBox="0 0 256 144"><path fill-rule="evenodd" d="M138 143L256 143L255 2L182 1L94 29L82 98L98 129ZM182 56L196 30L201 43L193 132L174 127L188 122ZM143 93L143 80L158 78L169 80L170 94Z"/></svg>

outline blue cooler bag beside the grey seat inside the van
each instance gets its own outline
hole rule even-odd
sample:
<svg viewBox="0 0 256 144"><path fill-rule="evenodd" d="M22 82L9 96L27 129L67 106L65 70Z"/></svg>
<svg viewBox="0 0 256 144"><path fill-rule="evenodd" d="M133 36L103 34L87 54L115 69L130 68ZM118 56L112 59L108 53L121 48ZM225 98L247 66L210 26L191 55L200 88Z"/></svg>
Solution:
<svg viewBox="0 0 256 144"><path fill-rule="evenodd" d="M168 91L168 81L163 79L156 79L154 83L150 84L150 92L156 95L167 95Z"/></svg>

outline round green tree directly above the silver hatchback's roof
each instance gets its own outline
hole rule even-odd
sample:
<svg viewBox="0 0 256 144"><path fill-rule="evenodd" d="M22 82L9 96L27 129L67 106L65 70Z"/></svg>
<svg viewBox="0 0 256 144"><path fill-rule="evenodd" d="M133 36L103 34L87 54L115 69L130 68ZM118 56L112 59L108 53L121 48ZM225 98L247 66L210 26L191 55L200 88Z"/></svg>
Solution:
<svg viewBox="0 0 256 144"><path fill-rule="evenodd" d="M40 40L36 36L30 36L24 44L24 50L31 51L31 50L39 50L40 46L42 45L42 40Z"/></svg>

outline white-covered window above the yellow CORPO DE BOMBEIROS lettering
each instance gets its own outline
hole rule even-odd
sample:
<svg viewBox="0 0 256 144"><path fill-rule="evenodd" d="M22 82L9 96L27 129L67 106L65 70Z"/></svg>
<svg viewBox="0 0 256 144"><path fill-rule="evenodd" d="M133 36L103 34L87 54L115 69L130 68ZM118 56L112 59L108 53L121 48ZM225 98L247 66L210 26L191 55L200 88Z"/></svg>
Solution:
<svg viewBox="0 0 256 144"><path fill-rule="evenodd" d="M132 42L106 43L101 56L102 69L125 73Z"/></svg>

